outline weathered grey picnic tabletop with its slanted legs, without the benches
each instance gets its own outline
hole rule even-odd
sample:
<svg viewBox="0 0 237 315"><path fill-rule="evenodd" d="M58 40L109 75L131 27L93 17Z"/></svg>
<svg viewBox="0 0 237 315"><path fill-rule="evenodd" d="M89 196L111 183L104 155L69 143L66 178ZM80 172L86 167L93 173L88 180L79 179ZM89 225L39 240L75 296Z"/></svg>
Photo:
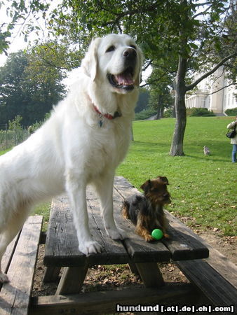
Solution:
<svg viewBox="0 0 237 315"><path fill-rule="evenodd" d="M94 265L129 264L130 270L140 274L146 288L163 286L163 276L157 262L196 260L208 257L208 248L196 239L194 232L166 211L170 239L147 243L135 234L135 227L121 216L124 198L139 193L126 179L114 180L114 217L119 228L126 230L128 239L114 241L107 236L100 216L100 206L92 188L87 190L90 231L103 246L102 253L88 257L79 252L72 211L67 197L53 200L46 238L44 264L45 281L55 280L64 267L56 295L79 293L88 268Z"/></svg>

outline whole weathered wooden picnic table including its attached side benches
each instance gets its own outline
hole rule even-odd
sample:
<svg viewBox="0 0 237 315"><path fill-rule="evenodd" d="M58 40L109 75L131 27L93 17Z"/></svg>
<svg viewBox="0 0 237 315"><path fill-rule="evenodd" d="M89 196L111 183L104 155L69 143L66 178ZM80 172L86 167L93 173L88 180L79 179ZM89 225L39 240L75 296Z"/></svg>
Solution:
<svg viewBox="0 0 237 315"><path fill-rule="evenodd" d="M166 215L170 221L168 232L171 239L154 241L152 244L145 242L135 234L134 226L122 218L120 212L123 199L133 193L138 192L126 179L116 177L114 213L118 226L127 231L128 239L113 241L104 231L97 197L88 188L90 229L104 248L102 253L89 257L79 252L67 197L58 197L52 202L47 239L45 233L41 232L43 218L29 217L18 236L9 244L2 260L1 267L11 282L0 285L0 314L117 314L118 305L133 307L137 304L153 305L156 311L158 308L161 312L168 305L175 309L175 313L183 313L182 306L187 306L187 303L192 306L191 311L198 314L198 305L201 305L201 314L236 314L236 265L168 211ZM47 267L44 280L58 280L61 269L62 276L56 295L33 297L38 246L45 244L45 241L44 262ZM157 262L169 260L182 270L191 283L163 281ZM140 274L144 288L79 294L90 266L126 263L131 272Z"/></svg>

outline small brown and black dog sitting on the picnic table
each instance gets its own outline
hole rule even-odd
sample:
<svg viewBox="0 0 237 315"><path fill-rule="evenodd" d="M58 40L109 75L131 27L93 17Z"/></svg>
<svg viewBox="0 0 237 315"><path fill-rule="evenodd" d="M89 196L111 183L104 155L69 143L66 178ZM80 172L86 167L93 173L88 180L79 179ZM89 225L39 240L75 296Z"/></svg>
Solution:
<svg viewBox="0 0 237 315"><path fill-rule="evenodd" d="M164 204L170 204L170 193L167 190L168 179L158 176L142 184L144 195L133 195L123 202L122 215L136 225L135 232L146 241L153 241L152 230L160 228L163 236L166 233L167 219L163 211Z"/></svg>

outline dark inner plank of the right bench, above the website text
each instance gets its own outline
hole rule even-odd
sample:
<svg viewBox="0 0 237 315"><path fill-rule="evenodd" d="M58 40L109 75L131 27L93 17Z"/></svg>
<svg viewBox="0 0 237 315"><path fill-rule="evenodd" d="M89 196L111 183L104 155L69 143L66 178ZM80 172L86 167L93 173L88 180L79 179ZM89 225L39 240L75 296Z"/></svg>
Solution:
<svg viewBox="0 0 237 315"><path fill-rule="evenodd" d="M231 286L231 283L226 281L217 270L208 265L208 262L203 260L182 260L175 263L214 305L234 305L235 309L237 309L236 288Z"/></svg>

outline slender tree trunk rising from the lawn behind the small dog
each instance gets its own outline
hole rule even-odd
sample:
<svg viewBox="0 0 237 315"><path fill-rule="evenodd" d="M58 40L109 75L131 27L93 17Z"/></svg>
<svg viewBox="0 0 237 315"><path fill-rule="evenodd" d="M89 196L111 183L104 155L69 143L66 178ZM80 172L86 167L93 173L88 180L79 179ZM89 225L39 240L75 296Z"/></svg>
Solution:
<svg viewBox="0 0 237 315"><path fill-rule="evenodd" d="M177 70L177 76L175 78L175 131L172 137L172 144L170 148L170 155L182 156L184 155L183 143L184 143L184 132L186 127L186 107L185 107L185 73L187 70L187 59L180 55L179 66Z"/></svg>

